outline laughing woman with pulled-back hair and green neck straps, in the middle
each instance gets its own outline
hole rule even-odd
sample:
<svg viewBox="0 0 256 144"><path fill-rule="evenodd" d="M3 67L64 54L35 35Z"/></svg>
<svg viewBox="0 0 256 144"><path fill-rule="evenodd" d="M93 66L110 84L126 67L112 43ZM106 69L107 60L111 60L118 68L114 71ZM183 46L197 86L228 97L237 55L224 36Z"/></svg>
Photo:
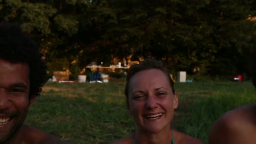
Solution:
<svg viewBox="0 0 256 144"><path fill-rule="evenodd" d="M137 131L115 144L202 144L171 129L178 96L162 62L147 59L128 69L126 104Z"/></svg>

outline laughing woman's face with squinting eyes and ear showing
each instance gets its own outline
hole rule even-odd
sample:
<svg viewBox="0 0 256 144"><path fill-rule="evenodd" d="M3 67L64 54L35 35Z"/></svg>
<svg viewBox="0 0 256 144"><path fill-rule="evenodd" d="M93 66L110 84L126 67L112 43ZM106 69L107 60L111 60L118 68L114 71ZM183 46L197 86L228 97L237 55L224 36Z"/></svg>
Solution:
<svg viewBox="0 0 256 144"><path fill-rule="evenodd" d="M132 76L128 88L129 111L139 131L158 133L170 129L178 106L167 76L159 69L149 69Z"/></svg>

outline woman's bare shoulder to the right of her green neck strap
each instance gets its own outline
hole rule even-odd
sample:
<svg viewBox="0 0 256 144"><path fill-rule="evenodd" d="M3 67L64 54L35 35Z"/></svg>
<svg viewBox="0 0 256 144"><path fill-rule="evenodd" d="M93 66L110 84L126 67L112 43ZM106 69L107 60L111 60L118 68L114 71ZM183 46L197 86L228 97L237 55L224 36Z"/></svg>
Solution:
<svg viewBox="0 0 256 144"><path fill-rule="evenodd" d="M179 131L171 130L174 135L174 141L177 144L203 144L199 139L190 137L187 134L183 134Z"/></svg>

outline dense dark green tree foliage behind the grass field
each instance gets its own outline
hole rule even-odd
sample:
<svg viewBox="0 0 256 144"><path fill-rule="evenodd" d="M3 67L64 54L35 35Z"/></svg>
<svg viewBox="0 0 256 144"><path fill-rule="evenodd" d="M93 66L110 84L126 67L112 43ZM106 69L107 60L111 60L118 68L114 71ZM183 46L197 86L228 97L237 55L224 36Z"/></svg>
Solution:
<svg viewBox="0 0 256 144"><path fill-rule="evenodd" d="M254 0L0 0L0 20L20 23L36 39L50 72L70 69L77 75L93 61L109 65L114 57L132 55L132 60L161 59L172 73L252 75L256 37L249 19L255 5Z"/></svg>

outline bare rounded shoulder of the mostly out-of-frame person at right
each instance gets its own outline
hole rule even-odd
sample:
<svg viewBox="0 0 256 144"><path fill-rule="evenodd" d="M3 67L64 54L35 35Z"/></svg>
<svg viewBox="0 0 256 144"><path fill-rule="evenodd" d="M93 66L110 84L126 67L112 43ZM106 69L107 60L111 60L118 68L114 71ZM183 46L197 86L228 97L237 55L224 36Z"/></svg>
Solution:
<svg viewBox="0 0 256 144"><path fill-rule="evenodd" d="M209 133L209 144L233 144L256 141L256 105L245 105L227 111L214 122Z"/></svg>

